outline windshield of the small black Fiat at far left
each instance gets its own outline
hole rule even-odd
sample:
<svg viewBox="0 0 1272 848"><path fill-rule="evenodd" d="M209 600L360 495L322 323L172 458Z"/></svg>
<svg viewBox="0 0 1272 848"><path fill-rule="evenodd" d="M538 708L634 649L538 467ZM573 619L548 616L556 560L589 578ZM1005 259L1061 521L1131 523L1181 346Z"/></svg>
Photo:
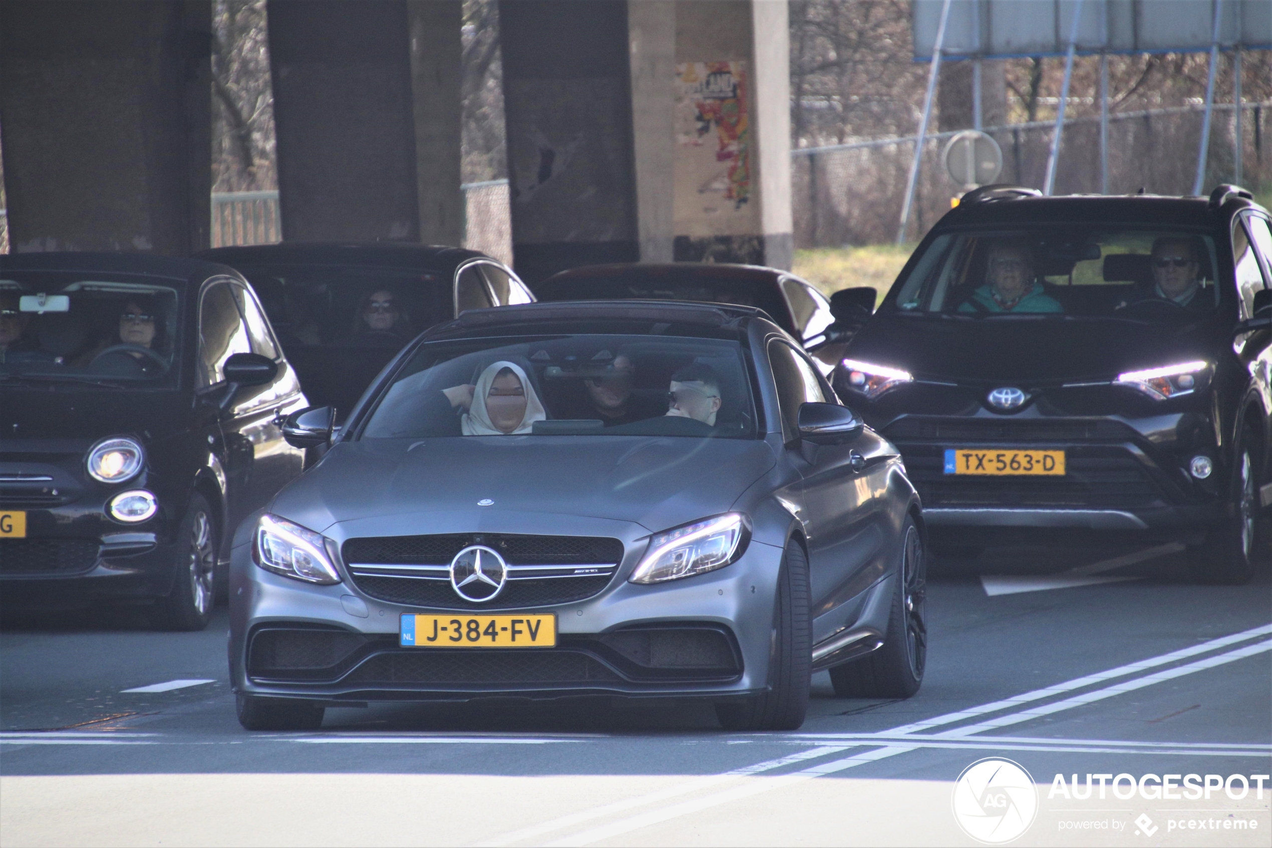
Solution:
<svg viewBox="0 0 1272 848"><path fill-rule="evenodd" d="M178 297L149 280L0 275L0 378L176 384Z"/></svg>

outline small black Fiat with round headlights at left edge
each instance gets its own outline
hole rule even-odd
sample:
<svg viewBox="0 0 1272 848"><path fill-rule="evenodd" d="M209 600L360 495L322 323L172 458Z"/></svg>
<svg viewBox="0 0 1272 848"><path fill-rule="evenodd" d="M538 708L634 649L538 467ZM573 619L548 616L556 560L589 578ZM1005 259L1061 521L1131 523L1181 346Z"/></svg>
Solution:
<svg viewBox="0 0 1272 848"><path fill-rule="evenodd" d="M201 629L238 521L300 473L307 406L243 278L137 254L0 256L0 581Z"/></svg>

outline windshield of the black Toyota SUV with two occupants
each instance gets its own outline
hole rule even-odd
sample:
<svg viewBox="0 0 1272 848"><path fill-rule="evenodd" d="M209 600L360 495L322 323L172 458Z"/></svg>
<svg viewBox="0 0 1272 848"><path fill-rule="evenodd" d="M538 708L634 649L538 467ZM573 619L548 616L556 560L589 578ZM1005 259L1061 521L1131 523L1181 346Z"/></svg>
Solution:
<svg viewBox="0 0 1272 848"><path fill-rule="evenodd" d="M1215 243L1172 229L1086 225L948 233L888 308L968 318L1187 320L1220 301Z"/></svg>

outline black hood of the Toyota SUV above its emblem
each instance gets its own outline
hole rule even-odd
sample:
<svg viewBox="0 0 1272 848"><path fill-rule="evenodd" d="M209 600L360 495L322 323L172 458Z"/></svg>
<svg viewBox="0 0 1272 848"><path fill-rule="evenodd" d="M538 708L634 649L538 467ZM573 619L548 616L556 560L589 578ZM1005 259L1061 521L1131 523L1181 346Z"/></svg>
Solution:
<svg viewBox="0 0 1272 848"><path fill-rule="evenodd" d="M878 314L852 338L845 356L899 367L917 378L1037 384L1213 361L1216 332L1211 322Z"/></svg>

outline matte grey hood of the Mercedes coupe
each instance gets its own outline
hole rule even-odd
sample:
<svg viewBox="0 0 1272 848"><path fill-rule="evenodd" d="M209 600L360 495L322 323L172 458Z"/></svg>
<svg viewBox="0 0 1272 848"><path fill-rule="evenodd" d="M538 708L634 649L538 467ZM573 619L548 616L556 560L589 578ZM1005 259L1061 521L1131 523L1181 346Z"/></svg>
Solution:
<svg viewBox="0 0 1272 848"><path fill-rule="evenodd" d="M418 516L412 528L431 528L415 533L494 530L510 514L523 526L528 515L561 515L663 530L726 512L775 463L759 440L368 439L335 445L271 511L319 531L393 515Z"/></svg>

